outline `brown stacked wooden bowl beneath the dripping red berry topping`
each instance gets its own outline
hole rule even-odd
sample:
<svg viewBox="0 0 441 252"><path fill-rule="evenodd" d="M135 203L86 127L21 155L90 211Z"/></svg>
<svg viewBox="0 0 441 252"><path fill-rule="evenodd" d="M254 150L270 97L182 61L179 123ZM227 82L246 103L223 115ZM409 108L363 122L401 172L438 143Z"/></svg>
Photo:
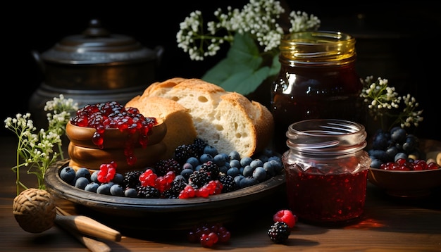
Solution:
<svg viewBox="0 0 441 252"><path fill-rule="evenodd" d="M104 147L99 149L92 142L94 132L96 130L91 127L79 127L70 122L66 125L66 135L70 140L68 146L69 165L73 168L85 167L89 170L99 170L101 164L114 161L117 164L118 172L123 173L156 163L167 150L166 144L162 141L166 136L167 127L162 121L151 129L145 148L136 141L139 134L129 135L128 132L120 132L118 129L107 129L104 132ZM125 145L128 140L135 143L133 154L136 161L132 165L128 164L125 156Z"/></svg>

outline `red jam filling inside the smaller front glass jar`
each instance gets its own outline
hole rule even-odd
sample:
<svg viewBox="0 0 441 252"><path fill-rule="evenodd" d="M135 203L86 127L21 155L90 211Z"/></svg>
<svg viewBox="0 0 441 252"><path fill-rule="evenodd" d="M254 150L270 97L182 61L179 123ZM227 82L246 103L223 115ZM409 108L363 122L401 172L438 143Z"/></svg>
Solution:
<svg viewBox="0 0 441 252"><path fill-rule="evenodd" d="M368 170L322 174L317 168L287 170L287 197L292 212L312 222L341 222L363 213Z"/></svg>

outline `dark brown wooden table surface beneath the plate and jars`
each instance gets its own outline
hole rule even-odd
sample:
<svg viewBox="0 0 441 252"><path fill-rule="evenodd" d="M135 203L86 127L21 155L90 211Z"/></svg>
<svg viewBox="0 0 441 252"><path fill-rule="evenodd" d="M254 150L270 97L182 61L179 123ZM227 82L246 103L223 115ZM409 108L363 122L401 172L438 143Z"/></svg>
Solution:
<svg viewBox="0 0 441 252"><path fill-rule="evenodd" d="M32 234L15 221L15 173L11 170L15 144L13 137L0 139L0 251L89 251L56 225ZM33 176L22 178L32 183ZM58 201L58 206L75 214L68 201ZM246 209L234 225L225 225L232 234L230 242L213 248L192 244L184 234L175 233L121 232L121 241L101 241L111 251L441 251L441 189L425 199L397 199L368 183L366 207L358 222L344 227L297 222L285 244L274 244L266 231L275 210L285 206L285 195L280 194L261 207Z"/></svg>

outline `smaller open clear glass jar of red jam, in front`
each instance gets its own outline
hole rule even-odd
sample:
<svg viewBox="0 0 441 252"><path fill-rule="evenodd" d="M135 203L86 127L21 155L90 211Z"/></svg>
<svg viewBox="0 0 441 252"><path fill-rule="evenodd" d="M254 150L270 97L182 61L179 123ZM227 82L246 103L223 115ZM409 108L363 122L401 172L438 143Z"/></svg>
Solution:
<svg viewBox="0 0 441 252"><path fill-rule="evenodd" d="M347 120L295 122L286 132L288 206L299 220L344 224L364 211L371 159L364 126ZM286 138L285 138L286 139Z"/></svg>

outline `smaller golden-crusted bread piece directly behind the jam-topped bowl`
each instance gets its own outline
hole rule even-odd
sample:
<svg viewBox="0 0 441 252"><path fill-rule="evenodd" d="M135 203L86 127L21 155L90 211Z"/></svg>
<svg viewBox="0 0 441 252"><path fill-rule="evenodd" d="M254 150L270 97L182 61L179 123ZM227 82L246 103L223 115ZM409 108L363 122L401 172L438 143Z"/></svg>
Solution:
<svg viewBox="0 0 441 252"><path fill-rule="evenodd" d="M161 156L161 160L173 157L176 147L181 144L192 144L197 137L192 115L188 109L180 103L161 96L135 96L125 104L125 107L133 107L139 113L147 117L161 118L167 126L166 136L163 143L167 150Z"/></svg>

